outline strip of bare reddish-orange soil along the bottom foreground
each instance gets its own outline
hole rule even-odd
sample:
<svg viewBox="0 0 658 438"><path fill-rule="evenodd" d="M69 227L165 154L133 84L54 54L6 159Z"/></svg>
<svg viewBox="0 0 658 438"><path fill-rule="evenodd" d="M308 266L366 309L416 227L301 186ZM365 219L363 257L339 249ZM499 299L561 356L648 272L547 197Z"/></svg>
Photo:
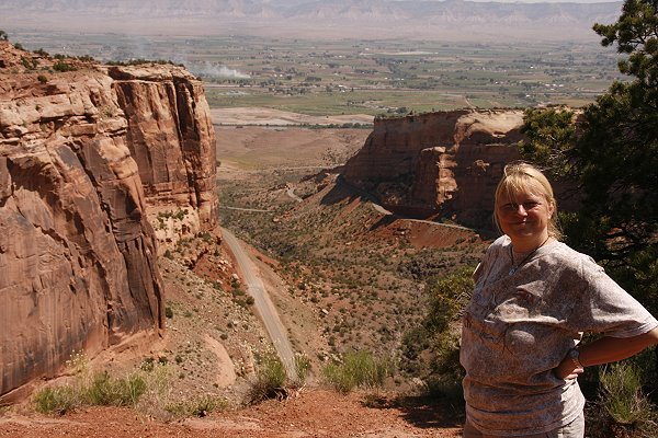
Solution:
<svg viewBox="0 0 658 438"><path fill-rule="evenodd" d="M432 405L386 399L363 404L364 394L339 395L302 390L283 402L269 401L239 411L179 423L158 423L127 408L93 407L65 417L12 414L0 418L0 437L460 437Z"/></svg>

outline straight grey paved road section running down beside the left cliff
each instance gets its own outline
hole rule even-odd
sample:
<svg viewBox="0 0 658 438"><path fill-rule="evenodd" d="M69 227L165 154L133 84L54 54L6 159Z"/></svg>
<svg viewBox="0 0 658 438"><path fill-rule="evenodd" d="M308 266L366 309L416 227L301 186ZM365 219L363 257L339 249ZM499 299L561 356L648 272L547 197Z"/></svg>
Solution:
<svg viewBox="0 0 658 438"><path fill-rule="evenodd" d="M242 272L242 277L247 284L247 291L253 297L256 310L265 325L265 330L272 339L272 344L274 344L274 348L276 348L276 353L285 367L288 378L295 381L298 380L293 346L291 345L287 332L279 318L276 308L272 303L272 300L270 300L270 296L268 295L263 280L258 272L258 267L245 250L242 250L240 241L234 233L226 228L223 228L222 235L224 242L226 242L236 257L238 267Z"/></svg>

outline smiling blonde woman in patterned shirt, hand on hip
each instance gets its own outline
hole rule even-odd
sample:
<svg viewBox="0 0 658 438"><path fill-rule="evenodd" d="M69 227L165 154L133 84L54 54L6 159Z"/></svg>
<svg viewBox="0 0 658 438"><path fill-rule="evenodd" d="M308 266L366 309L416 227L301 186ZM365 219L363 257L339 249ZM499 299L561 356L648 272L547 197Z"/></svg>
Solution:
<svg viewBox="0 0 658 438"><path fill-rule="evenodd" d="M556 203L534 166L506 166L504 233L475 270L464 311L464 437L583 437L585 367L658 343L658 321L593 260L558 241ZM583 333L604 336L580 345Z"/></svg>

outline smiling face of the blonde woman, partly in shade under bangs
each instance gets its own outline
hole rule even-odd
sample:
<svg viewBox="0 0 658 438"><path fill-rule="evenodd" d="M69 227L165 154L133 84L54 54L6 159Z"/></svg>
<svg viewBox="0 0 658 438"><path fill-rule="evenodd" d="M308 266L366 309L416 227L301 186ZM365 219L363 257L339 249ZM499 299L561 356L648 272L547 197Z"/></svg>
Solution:
<svg viewBox="0 0 658 438"><path fill-rule="evenodd" d="M502 232L512 243L532 246L541 245L548 238L548 223L554 209L544 195L524 191L502 193L498 198L496 215Z"/></svg>

